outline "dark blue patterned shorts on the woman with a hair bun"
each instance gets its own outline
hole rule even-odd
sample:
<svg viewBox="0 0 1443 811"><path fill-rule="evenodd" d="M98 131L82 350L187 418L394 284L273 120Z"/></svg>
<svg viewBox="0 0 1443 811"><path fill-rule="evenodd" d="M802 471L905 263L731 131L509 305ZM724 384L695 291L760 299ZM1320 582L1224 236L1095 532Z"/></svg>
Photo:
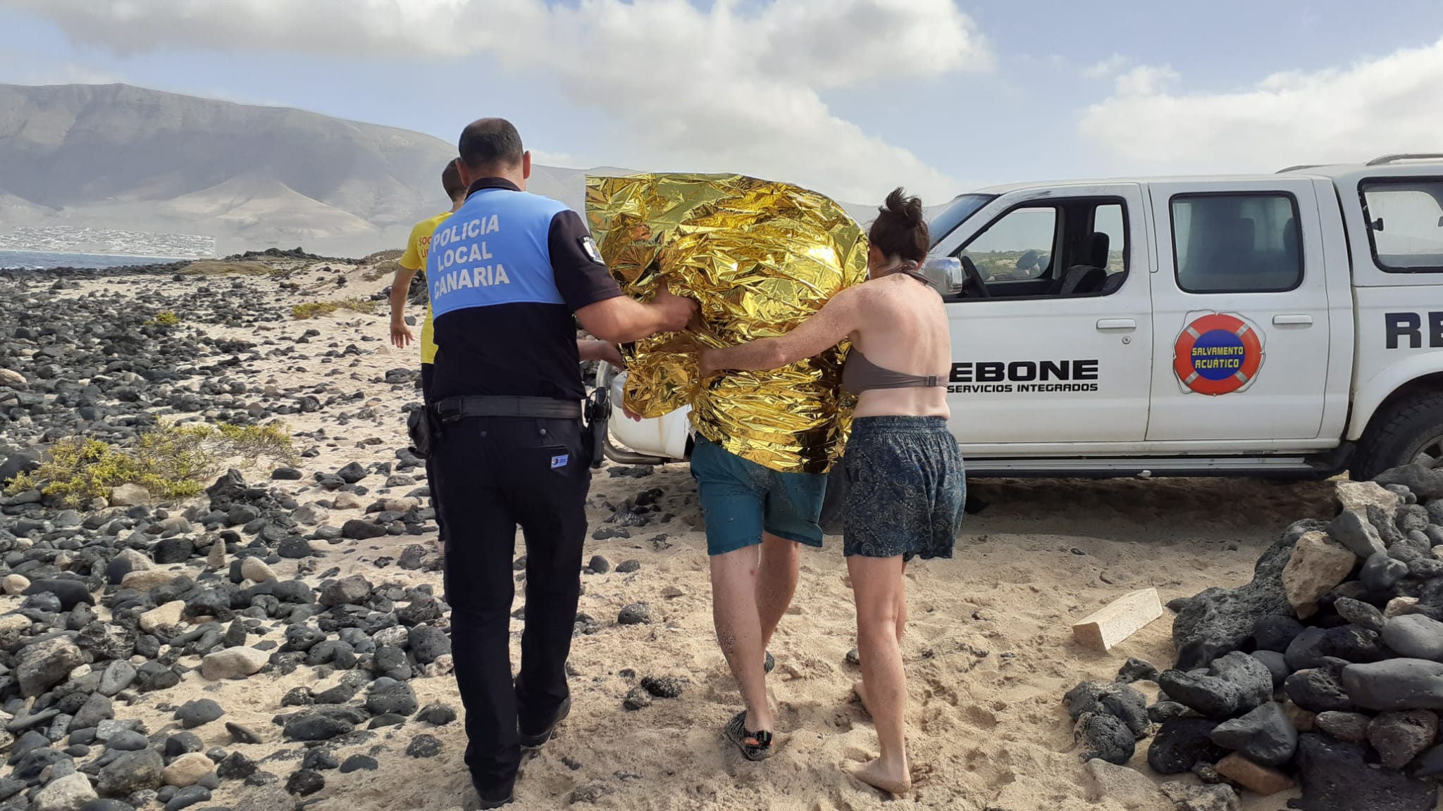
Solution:
<svg viewBox="0 0 1443 811"><path fill-rule="evenodd" d="M841 465L847 557L952 557L967 476L945 418L859 417Z"/></svg>

